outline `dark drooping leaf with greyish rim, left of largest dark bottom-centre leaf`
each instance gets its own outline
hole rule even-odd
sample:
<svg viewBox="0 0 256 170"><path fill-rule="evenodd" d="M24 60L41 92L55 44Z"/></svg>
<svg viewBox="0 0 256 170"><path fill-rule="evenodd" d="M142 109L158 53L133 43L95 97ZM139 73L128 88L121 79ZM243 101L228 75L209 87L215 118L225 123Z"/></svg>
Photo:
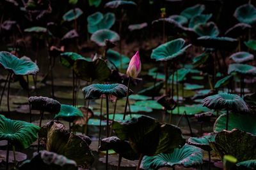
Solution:
<svg viewBox="0 0 256 170"><path fill-rule="evenodd" d="M99 150L111 150L113 149L116 153L129 160L138 160L140 155L132 150L131 145L128 141L122 141L116 136L101 139Z"/></svg>

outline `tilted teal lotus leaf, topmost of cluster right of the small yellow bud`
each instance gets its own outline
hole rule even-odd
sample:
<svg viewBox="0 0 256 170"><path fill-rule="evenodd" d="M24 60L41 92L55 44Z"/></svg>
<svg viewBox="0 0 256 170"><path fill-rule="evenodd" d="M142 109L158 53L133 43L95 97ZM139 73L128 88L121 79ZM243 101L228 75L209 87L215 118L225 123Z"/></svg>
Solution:
<svg viewBox="0 0 256 170"><path fill-rule="evenodd" d="M200 15L205 9L204 4L196 4L195 6L191 6L183 10L180 15L190 19L195 17L196 15Z"/></svg>

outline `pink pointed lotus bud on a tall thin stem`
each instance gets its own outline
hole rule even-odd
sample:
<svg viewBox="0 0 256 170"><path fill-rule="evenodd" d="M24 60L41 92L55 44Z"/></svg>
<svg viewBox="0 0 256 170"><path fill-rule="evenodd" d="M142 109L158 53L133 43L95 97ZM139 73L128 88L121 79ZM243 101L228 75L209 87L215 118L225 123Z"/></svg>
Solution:
<svg viewBox="0 0 256 170"><path fill-rule="evenodd" d="M140 62L140 54L136 52L130 60L129 67L127 68L126 74L127 76L131 76L132 78L136 78L141 70L141 62Z"/></svg>

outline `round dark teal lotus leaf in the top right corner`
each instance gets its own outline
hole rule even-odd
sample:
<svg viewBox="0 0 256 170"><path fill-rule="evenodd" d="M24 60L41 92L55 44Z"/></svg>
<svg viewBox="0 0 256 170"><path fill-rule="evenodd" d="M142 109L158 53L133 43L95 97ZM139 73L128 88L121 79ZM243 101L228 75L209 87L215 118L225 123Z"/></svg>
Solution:
<svg viewBox="0 0 256 170"><path fill-rule="evenodd" d="M254 25L256 22L256 9L252 4L243 4L236 8L234 17L239 22Z"/></svg>

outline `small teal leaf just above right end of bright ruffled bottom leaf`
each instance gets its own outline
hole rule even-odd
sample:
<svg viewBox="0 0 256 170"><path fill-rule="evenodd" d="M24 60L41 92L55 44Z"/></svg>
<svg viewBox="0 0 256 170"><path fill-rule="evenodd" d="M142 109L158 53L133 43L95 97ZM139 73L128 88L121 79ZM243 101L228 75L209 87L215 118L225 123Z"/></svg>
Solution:
<svg viewBox="0 0 256 170"><path fill-rule="evenodd" d="M214 134L207 134L199 138L193 137L188 139L188 144L209 151L211 150L209 141L212 141L212 138L214 138Z"/></svg>

